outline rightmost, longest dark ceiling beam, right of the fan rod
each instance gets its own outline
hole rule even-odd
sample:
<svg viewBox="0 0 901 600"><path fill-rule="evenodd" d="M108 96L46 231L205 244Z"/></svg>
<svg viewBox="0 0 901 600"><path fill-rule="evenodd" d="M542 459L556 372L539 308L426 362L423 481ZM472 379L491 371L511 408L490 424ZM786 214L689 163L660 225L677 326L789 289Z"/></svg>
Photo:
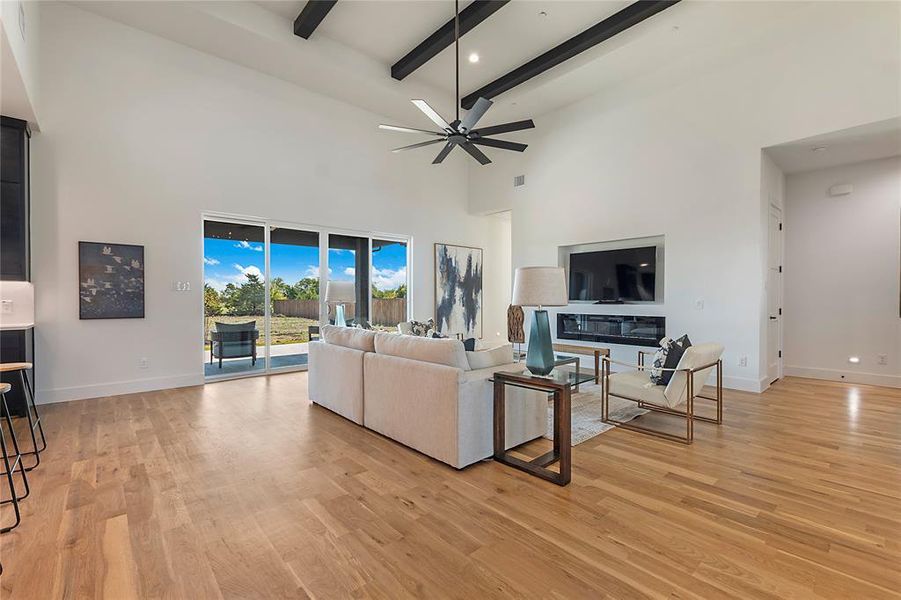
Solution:
<svg viewBox="0 0 901 600"><path fill-rule="evenodd" d="M541 56L530 60L521 67L510 71L488 85L465 96L463 100L460 101L460 105L468 110L472 108L479 97L488 98L490 100L491 98L499 96L500 94L525 83L529 79L544 73L548 69L552 69L560 63L569 60L573 56L576 56L605 40L609 40L616 34L641 23L645 19L656 15L677 2L679 2L679 0L641 0L640 2L630 4L616 14L607 17L600 23L586 29L579 35L571 37L559 46L548 50Z"/></svg>

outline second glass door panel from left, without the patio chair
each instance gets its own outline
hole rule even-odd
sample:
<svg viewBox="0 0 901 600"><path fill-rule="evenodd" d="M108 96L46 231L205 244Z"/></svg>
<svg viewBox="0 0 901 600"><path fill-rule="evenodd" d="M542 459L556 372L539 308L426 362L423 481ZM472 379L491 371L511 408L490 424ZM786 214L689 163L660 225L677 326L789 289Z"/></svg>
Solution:
<svg viewBox="0 0 901 600"><path fill-rule="evenodd" d="M269 277L270 366L305 366L319 332L319 233L271 227Z"/></svg>

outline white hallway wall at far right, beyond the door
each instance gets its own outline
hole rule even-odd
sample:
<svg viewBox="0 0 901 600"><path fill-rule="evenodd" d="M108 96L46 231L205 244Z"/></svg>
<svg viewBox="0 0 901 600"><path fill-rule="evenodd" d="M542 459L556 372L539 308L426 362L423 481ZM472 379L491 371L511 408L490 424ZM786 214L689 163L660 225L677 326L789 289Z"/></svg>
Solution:
<svg viewBox="0 0 901 600"><path fill-rule="evenodd" d="M901 387L901 158L789 175L785 208L786 374Z"/></svg>

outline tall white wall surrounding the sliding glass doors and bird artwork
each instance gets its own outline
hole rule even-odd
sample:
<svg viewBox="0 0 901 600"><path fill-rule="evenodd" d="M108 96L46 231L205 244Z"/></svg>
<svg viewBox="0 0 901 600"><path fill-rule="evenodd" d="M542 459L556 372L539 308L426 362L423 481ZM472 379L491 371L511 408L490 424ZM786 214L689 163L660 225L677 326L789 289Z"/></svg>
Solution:
<svg viewBox="0 0 901 600"><path fill-rule="evenodd" d="M486 340L505 331L506 224L468 214L465 157L391 154L407 140L377 115L78 8L41 9L41 401L202 381L203 211L410 234L420 318L434 311L433 244L482 247ZM79 240L145 246L145 319L79 321ZM176 280L192 291L171 291Z"/></svg>

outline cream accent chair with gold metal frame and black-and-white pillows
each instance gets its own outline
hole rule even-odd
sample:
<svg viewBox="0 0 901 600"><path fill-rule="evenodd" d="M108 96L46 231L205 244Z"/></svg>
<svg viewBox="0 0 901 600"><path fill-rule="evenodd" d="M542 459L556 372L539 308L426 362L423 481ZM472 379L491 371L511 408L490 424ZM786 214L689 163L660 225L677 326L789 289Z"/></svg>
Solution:
<svg viewBox="0 0 901 600"><path fill-rule="evenodd" d="M666 386L656 385L650 379L650 367L645 365L644 355L652 352L639 351L638 364L611 360L602 357L603 375L601 389L601 419L617 427L648 433L657 437L691 444L694 440L694 421L721 424L723 422L723 346L720 344L699 344L690 346L675 369ZM611 365L631 367L633 371L611 373ZM699 392L704 388L711 371L716 370L716 397L704 396ZM642 427L631 422L617 421L609 415L610 397L629 400L640 408L674 415L685 419L685 435L675 435ZM703 398L716 403L716 418L701 417L694 412L695 398ZM684 405L684 408L679 408Z"/></svg>

